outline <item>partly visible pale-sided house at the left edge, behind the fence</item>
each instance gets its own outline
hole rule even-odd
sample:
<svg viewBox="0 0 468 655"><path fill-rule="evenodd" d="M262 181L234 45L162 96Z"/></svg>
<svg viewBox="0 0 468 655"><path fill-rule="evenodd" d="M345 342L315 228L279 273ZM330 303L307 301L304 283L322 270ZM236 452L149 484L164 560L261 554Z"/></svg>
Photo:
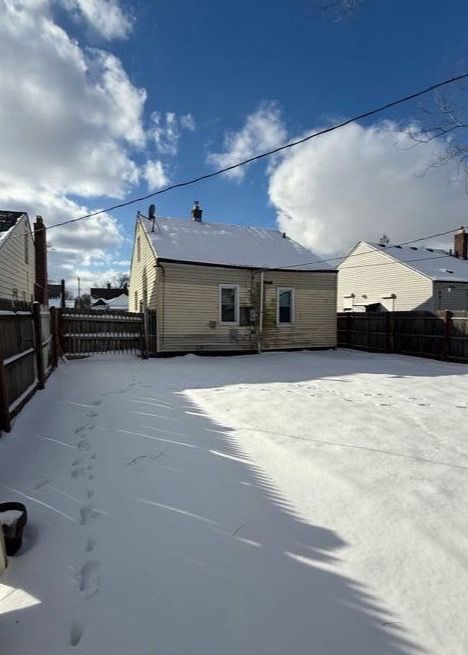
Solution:
<svg viewBox="0 0 468 655"><path fill-rule="evenodd" d="M34 239L28 215L0 211L0 298L34 299Z"/></svg>

